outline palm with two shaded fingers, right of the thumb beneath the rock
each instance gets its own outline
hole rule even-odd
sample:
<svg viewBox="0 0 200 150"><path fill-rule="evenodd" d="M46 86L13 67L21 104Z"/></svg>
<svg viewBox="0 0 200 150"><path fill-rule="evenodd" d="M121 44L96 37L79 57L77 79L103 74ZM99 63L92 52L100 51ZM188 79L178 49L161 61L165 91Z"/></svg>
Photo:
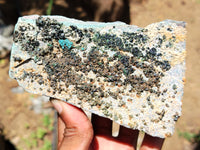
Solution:
<svg viewBox="0 0 200 150"><path fill-rule="evenodd" d="M118 137L112 137L112 121L92 115L94 139L90 150L134 150L138 131L120 127Z"/></svg>

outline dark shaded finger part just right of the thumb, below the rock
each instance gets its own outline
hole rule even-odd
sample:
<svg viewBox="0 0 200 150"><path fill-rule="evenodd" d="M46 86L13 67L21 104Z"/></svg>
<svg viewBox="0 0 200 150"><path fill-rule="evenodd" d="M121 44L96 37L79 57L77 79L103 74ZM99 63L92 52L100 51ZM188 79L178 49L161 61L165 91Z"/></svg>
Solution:
<svg viewBox="0 0 200 150"><path fill-rule="evenodd" d="M112 121L92 114L92 124L95 135L112 136Z"/></svg>

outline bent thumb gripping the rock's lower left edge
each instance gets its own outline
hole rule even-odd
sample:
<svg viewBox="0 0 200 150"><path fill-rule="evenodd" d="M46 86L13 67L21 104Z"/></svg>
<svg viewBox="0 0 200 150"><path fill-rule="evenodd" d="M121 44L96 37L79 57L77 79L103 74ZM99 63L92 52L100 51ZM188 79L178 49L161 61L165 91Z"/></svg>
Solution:
<svg viewBox="0 0 200 150"><path fill-rule="evenodd" d="M65 124L59 150L88 150L93 139L93 128L85 113L66 102L52 99L54 108ZM62 130L62 129L58 129ZM58 132L59 134L61 132ZM60 135L58 135L60 137Z"/></svg>

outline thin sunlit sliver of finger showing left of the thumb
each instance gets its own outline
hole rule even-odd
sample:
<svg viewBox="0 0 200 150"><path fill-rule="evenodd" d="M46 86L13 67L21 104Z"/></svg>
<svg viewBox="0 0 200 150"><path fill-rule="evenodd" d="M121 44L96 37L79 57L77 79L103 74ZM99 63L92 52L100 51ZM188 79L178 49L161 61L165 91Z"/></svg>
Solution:
<svg viewBox="0 0 200 150"><path fill-rule="evenodd" d="M62 121L61 117L58 115L58 147L60 147L60 144L63 140L63 133L65 131L65 124Z"/></svg>

